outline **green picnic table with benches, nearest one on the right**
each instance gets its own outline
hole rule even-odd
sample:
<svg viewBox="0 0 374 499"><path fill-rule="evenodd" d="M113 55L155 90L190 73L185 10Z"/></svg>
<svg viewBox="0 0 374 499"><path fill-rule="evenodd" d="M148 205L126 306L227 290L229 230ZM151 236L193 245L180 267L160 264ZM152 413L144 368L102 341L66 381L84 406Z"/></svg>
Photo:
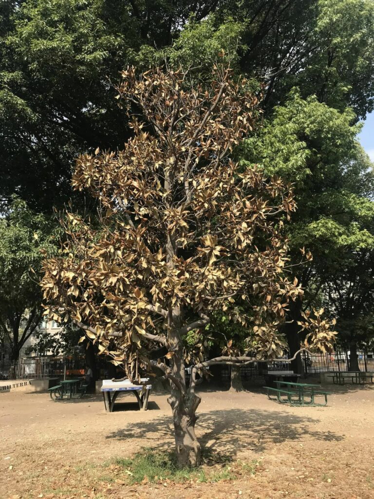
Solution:
<svg viewBox="0 0 374 499"><path fill-rule="evenodd" d="M287 381L276 381L276 388L266 386L267 396L270 400L277 400L280 404L289 403L292 406L325 406L327 404L327 396L330 392L318 390L319 385L311 385L308 383L292 383ZM270 397L269 392L274 392L276 398ZM316 396L325 398L324 404L319 404L315 401Z"/></svg>

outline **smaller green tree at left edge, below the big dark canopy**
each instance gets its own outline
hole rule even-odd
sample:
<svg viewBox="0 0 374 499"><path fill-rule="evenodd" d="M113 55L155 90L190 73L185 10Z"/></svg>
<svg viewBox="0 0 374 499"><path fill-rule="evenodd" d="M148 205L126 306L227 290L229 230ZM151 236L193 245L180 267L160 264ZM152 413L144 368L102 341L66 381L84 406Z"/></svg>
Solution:
<svg viewBox="0 0 374 499"><path fill-rule="evenodd" d="M40 322L43 308L37 272L42 259L55 252L56 234L50 219L16 198L10 214L0 220L0 331L12 360Z"/></svg>

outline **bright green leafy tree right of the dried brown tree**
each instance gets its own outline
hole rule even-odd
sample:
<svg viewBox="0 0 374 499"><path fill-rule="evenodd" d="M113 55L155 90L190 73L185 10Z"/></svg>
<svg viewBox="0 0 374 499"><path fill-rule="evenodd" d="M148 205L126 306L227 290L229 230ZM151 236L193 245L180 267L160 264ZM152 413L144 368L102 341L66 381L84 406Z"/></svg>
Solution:
<svg viewBox="0 0 374 499"><path fill-rule="evenodd" d="M346 278L348 285L357 273L361 290L369 285L360 255L363 251L365 259L373 248L374 175L373 165L357 142L360 127L352 125L354 121L350 110L340 112L317 97L303 99L293 91L243 147L244 165L256 161L268 174L279 174L295 184L298 210L287 224L291 255L297 263L299 248L305 246L314 256L297 270L306 289L304 306L320 300L322 291L337 278L340 285ZM367 292L369 297L370 287ZM333 303L329 309L336 308ZM286 332L292 351L299 344L297 320L302 307L301 301L291 304L290 317L295 320ZM341 303L341 312L344 308ZM361 313L360 307L356 312ZM346 321L341 313L336 318ZM351 344L355 330L352 321ZM300 358L296 368L302 370Z"/></svg>

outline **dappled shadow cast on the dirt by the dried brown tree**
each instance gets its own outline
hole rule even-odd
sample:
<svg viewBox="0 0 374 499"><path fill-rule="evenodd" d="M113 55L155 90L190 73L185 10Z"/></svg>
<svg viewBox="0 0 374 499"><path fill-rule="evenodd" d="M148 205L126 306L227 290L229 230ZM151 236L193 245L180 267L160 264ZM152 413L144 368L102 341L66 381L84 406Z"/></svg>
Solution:
<svg viewBox="0 0 374 499"><path fill-rule="evenodd" d="M338 442L343 435L332 431L310 428L318 422L305 416L286 412L258 409L225 409L202 413L196 423L200 443L207 449L234 457L238 451L250 449L261 453L269 446L282 442L317 440ZM172 417L160 417L154 421L131 423L126 428L112 432L107 439L145 439L163 448L173 441Z"/></svg>

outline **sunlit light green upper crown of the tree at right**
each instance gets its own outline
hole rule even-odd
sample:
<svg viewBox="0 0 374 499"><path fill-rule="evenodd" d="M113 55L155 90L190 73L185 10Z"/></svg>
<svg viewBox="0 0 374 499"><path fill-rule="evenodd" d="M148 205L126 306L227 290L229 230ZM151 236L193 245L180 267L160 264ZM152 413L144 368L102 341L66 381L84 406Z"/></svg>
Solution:
<svg viewBox="0 0 374 499"><path fill-rule="evenodd" d="M293 89L258 134L245 141L244 157L298 188L312 175L311 182L326 184L341 160L349 161L356 152L359 127L352 126L355 118L350 109L341 113L320 103L316 96L303 99L299 90Z"/></svg>

